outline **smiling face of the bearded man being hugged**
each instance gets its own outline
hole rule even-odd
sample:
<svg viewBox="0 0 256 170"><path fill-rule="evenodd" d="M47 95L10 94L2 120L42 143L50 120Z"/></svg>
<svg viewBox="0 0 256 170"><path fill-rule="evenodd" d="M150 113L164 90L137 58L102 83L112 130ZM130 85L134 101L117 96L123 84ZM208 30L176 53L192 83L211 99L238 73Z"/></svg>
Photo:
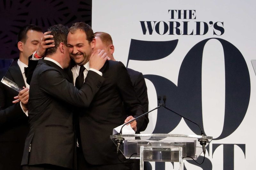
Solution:
<svg viewBox="0 0 256 170"><path fill-rule="evenodd" d="M68 33L68 52L77 65L84 65L89 61L94 46L95 39L89 42L81 29Z"/></svg>

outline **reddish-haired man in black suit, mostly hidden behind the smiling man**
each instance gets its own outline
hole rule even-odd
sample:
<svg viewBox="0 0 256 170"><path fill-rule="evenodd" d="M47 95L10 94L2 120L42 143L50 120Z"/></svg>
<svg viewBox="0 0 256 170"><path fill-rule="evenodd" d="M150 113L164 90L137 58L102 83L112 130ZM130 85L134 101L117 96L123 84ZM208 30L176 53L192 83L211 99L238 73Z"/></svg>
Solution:
<svg viewBox="0 0 256 170"><path fill-rule="evenodd" d="M96 32L94 33L94 36L96 41L94 50L103 49L107 53L110 60L116 61L113 55L115 47L113 45L111 36L104 32ZM132 86L140 100L141 105L143 106L144 112L148 112L148 89L143 74L130 68L126 69L131 78ZM148 115L145 115L143 125L140 129L137 129L136 133L144 131L148 126L148 122Z"/></svg>

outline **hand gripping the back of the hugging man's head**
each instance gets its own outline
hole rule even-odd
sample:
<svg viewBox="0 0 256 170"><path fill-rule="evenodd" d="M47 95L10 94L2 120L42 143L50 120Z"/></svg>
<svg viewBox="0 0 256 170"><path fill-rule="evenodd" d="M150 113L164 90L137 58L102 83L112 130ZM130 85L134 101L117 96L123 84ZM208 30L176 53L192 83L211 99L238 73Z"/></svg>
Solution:
<svg viewBox="0 0 256 170"><path fill-rule="evenodd" d="M44 36L40 40L40 45L39 45L39 48L37 49L37 52L36 52L36 54L38 56L43 57L44 53L45 53L45 50L47 48L51 48L51 47L55 46L54 40L52 39L53 35L47 35L49 33L51 33L51 31L45 32Z"/></svg>

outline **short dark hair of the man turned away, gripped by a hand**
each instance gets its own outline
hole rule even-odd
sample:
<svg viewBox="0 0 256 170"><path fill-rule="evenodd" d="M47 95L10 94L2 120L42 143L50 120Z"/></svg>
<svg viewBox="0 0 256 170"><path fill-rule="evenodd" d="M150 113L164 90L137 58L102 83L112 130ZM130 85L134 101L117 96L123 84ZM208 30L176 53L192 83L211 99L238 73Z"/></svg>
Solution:
<svg viewBox="0 0 256 170"><path fill-rule="evenodd" d="M49 33L48 35L53 35L53 38L49 38L47 40L54 40L55 46L51 48L47 48L45 51L45 55L52 55L56 53L57 48L59 47L61 42L63 42L67 46L68 44L67 42L68 27L67 26L57 24L55 26L51 26L50 28L48 28L47 31L51 31L51 33Z"/></svg>

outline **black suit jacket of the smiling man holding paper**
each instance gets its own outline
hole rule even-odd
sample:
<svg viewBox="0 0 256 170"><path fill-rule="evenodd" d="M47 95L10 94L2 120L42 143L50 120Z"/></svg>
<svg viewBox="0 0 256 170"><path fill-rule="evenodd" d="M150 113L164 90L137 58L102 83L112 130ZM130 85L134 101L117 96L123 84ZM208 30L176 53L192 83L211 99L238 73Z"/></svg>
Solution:
<svg viewBox="0 0 256 170"><path fill-rule="evenodd" d="M81 109L79 115L80 147L90 164L117 164L121 162L116 157L116 147L109 136L114 128L124 123L127 111L129 115L138 117L144 110L123 63L107 61L100 71L105 80L90 107ZM144 117L137 120L138 129L143 122Z"/></svg>

